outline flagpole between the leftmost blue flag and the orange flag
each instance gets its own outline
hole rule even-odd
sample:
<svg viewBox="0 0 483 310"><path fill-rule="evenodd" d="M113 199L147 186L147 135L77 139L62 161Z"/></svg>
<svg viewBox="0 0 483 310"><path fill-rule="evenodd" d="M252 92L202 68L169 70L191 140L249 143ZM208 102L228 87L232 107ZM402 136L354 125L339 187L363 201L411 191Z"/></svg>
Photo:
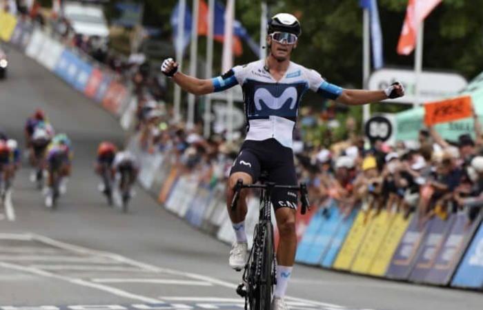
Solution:
<svg viewBox="0 0 483 310"><path fill-rule="evenodd" d="M190 76L196 76L196 65L198 60L198 11L199 0L193 0L193 21L191 23L191 45L190 45ZM188 130L195 125L195 95L188 94Z"/></svg>

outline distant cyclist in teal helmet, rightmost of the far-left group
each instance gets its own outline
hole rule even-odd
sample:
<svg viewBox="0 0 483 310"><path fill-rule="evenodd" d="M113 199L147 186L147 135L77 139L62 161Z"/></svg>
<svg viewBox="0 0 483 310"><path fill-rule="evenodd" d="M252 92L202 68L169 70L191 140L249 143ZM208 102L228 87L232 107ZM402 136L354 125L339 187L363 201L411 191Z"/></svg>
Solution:
<svg viewBox="0 0 483 310"><path fill-rule="evenodd" d="M46 193L47 207L52 207L54 196L59 195L57 189L60 191L61 178L69 161L68 152L68 147L62 144L52 144L48 148L46 155L46 168L48 172L48 191Z"/></svg>

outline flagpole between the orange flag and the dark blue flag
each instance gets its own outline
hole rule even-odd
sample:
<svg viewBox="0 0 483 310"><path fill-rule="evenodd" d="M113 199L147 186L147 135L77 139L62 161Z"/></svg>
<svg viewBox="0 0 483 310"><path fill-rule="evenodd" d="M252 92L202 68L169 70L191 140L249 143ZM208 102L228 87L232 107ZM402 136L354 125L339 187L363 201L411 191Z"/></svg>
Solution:
<svg viewBox="0 0 483 310"><path fill-rule="evenodd" d="M213 75L213 25L215 24L215 0L208 0L208 34L206 42L206 79ZM204 114L205 138L210 137L211 130L211 95L206 95Z"/></svg>

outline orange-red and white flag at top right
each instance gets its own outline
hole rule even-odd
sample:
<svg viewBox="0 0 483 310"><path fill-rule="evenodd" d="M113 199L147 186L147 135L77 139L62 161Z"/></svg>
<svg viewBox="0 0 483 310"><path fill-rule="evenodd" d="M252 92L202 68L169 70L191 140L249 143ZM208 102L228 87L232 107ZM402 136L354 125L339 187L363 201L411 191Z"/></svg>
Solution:
<svg viewBox="0 0 483 310"><path fill-rule="evenodd" d="M397 54L408 55L416 45L416 34L420 23L438 5L441 0L409 0L406 17L402 25L401 36L397 43Z"/></svg>

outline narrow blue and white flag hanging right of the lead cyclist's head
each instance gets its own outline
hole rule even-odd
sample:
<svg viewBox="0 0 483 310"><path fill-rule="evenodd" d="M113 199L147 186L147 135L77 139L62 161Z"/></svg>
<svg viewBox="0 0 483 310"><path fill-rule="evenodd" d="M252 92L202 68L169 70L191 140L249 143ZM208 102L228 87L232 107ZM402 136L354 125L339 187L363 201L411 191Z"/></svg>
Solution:
<svg viewBox="0 0 483 310"><path fill-rule="evenodd" d="M371 41L373 50L373 65L375 69L382 68L384 57L382 56L382 32L379 20L379 10L377 0L361 0L360 6L369 10L371 19Z"/></svg>

